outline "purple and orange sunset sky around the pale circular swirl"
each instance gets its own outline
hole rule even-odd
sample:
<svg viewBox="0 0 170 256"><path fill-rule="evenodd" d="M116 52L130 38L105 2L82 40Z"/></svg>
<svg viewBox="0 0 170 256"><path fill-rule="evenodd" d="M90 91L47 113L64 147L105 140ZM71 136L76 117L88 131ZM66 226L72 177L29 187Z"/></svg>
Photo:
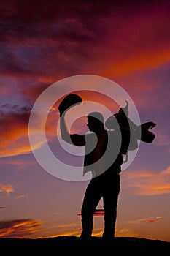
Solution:
<svg viewBox="0 0 170 256"><path fill-rule="evenodd" d="M94 75L121 86L142 123L157 124L155 140L141 142L120 173L115 236L170 241L170 2L1 1L0 31L0 237L80 236L89 181L57 178L39 165L28 126L45 89L65 78ZM96 88L88 93L80 85L82 99L117 113L120 106ZM58 145L58 95L47 116L47 142L71 165L74 159ZM36 121L38 138L41 116ZM79 118L72 129L85 132L85 121ZM42 149L37 143L36 150ZM102 201L93 236L103 231L101 210Z"/></svg>

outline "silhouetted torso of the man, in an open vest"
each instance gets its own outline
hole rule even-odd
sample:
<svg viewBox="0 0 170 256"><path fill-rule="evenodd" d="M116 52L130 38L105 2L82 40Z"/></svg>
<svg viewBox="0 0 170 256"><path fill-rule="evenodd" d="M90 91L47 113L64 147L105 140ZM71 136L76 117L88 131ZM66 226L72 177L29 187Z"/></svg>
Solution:
<svg viewBox="0 0 170 256"><path fill-rule="evenodd" d="M123 156L115 132L105 130L98 138L91 133L85 140L84 174L91 171L93 176L98 176L106 170L115 172L115 169L120 173Z"/></svg>

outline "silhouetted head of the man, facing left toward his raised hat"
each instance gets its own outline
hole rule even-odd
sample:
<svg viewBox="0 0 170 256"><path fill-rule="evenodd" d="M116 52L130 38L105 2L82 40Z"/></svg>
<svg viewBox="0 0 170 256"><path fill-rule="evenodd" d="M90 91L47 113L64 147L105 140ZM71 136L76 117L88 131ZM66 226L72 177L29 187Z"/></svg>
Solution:
<svg viewBox="0 0 170 256"><path fill-rule="evenodd" d="M104 116L99 112L89 113L87 126L91 132L101 132L104 129Z"/></svg>

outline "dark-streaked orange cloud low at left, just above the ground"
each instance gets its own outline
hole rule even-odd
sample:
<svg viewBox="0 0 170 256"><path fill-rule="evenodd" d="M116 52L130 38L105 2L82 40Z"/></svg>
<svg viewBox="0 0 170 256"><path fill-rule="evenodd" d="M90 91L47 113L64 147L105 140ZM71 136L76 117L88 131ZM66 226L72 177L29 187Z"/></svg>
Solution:
<svg viewBox="0 0 170 256"><path fill-rule="evenodd" d="M32 219L12 219L0 222L1 238L27 238L38 232L42 223Z"/></svg>

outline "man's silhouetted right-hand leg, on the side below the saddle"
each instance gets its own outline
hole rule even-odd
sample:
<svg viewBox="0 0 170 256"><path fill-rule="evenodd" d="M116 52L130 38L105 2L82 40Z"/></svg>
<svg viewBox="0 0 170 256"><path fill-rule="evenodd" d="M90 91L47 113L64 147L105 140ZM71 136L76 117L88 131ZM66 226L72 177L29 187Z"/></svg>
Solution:
<svg viewBox="0 0 170 256"><path fill-rule="evenodd" d="M104 238L115 236L115 223L117 218L117 201L120 192L120 177L108 179L104 187Z"/></svg>

